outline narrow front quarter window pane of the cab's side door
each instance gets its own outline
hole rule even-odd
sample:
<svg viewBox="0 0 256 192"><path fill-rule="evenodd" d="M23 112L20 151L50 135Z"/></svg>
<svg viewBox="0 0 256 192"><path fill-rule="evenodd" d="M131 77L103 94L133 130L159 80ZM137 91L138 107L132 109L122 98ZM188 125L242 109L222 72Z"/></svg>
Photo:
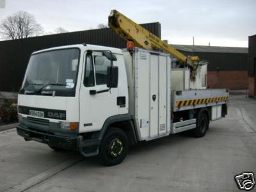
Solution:
<svg viewBox="0 0 256 192"><path fill-rule="evenodd" d="M94 86L94 72L92 64L92 55L86 56L85 71L84 71L84 86Z"/></svg>

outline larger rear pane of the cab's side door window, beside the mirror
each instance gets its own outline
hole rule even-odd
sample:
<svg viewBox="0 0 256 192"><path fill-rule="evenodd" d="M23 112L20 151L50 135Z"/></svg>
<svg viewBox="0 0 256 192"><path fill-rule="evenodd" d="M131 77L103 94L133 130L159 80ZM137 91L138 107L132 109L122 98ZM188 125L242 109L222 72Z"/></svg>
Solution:
<svg viewBox="0 0 256 192"><path fill-rule="evenodd" d="M106 56L94 56L96 84L107 83L107 69L111 61Z"/></svg>

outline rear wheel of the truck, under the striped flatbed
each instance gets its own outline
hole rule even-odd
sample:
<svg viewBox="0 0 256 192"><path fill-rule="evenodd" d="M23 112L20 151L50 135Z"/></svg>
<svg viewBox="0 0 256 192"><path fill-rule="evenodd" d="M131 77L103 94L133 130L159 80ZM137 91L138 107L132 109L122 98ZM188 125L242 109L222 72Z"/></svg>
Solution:
<svg viewBox="0 0 256 192"><path fill-rule="evenodd" d="M206 113L199 113L196 120L196 128L193 129L193 135L196 138L202 138L209 129L209 118Z"/></svg>

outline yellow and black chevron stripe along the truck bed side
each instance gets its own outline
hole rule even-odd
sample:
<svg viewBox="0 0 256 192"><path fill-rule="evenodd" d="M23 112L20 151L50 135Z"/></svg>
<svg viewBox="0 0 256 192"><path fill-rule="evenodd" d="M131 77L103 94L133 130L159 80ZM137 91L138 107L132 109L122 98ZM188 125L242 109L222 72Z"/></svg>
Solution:
<svg viewBox="0 0 256 192"><path fill-rule="evenodd" d="M177 100L176 107L180 108L183 106L196 106L198 104L227 101L227 100L228 100L228 97L211 97L211 98L203 98L203 99Z"/></svg>

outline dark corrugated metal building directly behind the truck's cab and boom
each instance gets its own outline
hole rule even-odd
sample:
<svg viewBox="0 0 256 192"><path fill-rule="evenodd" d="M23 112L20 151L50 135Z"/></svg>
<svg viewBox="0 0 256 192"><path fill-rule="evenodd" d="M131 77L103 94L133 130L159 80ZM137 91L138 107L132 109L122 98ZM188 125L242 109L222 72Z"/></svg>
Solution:
<svg viewBox="0 0 256 192"><path fill-rule="evenodd" d="M159 22L141 24L141 26L161 38ZM125 40L109 28L0 42L0 92L19 91L32 52L49 47L83 43L126 47Z"/></svg>

